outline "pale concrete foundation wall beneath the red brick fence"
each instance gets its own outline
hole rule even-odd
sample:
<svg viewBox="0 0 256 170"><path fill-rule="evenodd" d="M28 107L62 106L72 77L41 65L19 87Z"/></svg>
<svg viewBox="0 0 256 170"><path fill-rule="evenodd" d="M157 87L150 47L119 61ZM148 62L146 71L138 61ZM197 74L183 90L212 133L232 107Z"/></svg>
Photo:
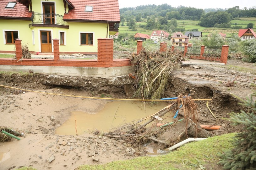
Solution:
<svg viewBox="0 0 256 170"><path fill-rule="evenodd" d="M56 66L26 66L26 65L0 65L0 71L22 71L44 73L52 75L72 75L107 78L132 73L132 66L123 67L56 67Z"/></svg>

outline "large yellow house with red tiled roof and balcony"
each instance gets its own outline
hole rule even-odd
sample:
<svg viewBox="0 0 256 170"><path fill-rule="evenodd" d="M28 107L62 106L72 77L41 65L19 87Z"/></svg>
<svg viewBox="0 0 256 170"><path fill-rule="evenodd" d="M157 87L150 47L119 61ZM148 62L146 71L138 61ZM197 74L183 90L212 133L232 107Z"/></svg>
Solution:
<svg viewBox="0 0 256 170"><path fill-rule="evenodd" d="M32 53L51 53L52 39L61 53L97 54L97 39L118 32L118 0L1 0L0 53L14 52L21 39Z"/></svg>

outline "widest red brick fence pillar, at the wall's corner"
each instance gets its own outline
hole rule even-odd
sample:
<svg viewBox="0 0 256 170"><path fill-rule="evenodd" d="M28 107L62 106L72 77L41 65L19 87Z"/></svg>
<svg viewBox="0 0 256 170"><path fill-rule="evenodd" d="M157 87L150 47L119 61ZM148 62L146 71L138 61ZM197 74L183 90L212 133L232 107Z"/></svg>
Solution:
<svg viewBox="0 0 256 170"><path fill-rule="evenodd" d="M98 39L98 66L112 67L114 39Z"/></svg>

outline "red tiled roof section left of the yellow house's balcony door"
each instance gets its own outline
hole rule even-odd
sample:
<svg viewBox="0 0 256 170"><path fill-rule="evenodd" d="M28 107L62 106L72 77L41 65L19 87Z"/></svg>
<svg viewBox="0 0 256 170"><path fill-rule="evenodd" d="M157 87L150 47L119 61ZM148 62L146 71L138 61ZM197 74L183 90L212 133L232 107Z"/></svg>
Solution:
<svg viewBox="0 0 256 170"><path fill-rule="evenodd" d="M17 3L14 8L5 8L8 2L15 2L10 0L1 0L0 3L0 18L31 18L32 13L29 12L29 9Z"/></svg>

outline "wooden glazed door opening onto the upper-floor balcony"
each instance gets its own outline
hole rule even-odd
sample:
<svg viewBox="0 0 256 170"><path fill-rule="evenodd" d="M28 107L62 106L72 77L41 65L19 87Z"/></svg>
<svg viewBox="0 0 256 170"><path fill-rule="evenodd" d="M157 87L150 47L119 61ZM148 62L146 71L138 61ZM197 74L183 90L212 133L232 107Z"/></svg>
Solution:
<svg viewBox="0 0 256 170"><path fill-rule="evenodd" d="M54 3L43 2L43 13L45 24L55 24Z"/></svg>

